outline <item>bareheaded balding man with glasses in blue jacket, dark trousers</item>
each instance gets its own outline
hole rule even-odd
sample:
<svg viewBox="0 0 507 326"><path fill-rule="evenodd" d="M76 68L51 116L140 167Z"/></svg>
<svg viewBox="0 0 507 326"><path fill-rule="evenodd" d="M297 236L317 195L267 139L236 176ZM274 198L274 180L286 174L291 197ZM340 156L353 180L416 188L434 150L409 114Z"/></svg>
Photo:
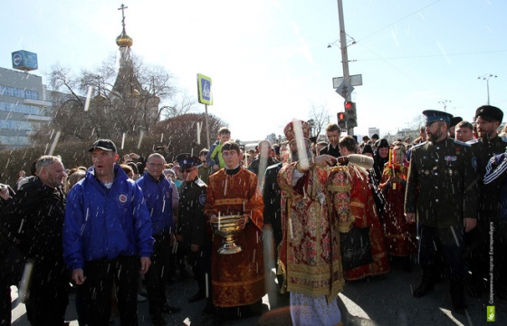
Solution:
<svg viewBox="0 0 507 326"><path fill-rule="evenodd" d="M167 325L162 313L177 313L180 309L167 305L166 287L163 279L167 273L170 259L171 231L174 225L172 209L172 189L163 171L166 159L154 153L148 157L143 177L136 182L141 187L148 206L152 235L155 238L151 267L145 274L148 291L149 314L154 325Z"/></svg>

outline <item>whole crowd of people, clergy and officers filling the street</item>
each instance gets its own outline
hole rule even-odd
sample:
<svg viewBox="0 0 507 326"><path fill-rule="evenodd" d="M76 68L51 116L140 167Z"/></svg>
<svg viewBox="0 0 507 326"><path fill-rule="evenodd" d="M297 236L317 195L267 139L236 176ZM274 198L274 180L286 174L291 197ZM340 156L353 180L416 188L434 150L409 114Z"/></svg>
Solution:
<svg viewBox="0 0 507 326"><path fill-rule="evenodd" d="M210 149L174 162L164 147L120 158L110 139L92 144L91 168L38 158L15 190L0 188L0 325L11 323L10 286L22 295L27 281L32 325L64 324L69 282L80 325L109 324L115 307L122 325L137 325L143 285L151 321L166 325L164 314L180 312L167 304L167 283L187 266L198 288L188 301L206 300L209 324L260 315L267 229L294 325L340 325L345 284L397 265L409 273L420 264L416 298L448 278L456 313L464 292L505 300L502 110L482 106L473 122L423 114L414 142L359 143L335 123L317 141L308 123L292 120L282 144L261 140L249 151L222 128ZM240 249L221 254L212 225L231 216Z"/></svg>

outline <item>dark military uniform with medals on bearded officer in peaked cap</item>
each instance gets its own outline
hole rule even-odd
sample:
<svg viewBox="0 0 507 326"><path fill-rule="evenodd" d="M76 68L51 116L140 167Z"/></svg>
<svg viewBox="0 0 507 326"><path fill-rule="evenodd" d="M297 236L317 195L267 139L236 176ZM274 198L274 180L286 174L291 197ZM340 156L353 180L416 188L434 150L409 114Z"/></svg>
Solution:
<svg viewBox="0 0 507 326"><path fill-rule="evenodd" d="M417 289L415 296L422 296L433 287L435 260L441 253L449 267L453 302L456 296L463 301L464 217L477 215L473 158L470 145L449 138L426 141L412 150L405 212L417 212L419 260L426 284L426 291L417 293Z"/></svg>

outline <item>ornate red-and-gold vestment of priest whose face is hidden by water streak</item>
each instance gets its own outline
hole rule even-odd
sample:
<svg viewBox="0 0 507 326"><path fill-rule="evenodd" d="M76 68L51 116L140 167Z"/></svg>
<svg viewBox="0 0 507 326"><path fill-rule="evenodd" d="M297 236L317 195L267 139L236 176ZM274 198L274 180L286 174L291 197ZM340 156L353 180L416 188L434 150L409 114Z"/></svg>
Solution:
<svg viewBox="0 0 507 326"><path fill-rule="evenodd" d="M345 282L340 234L336 221L328 214L328 175L321 168L311 168L292 187L296 164L284 166L278 174L283 197L279 265L287 291L313 298L325 296L330 302L343 290Z"/></svg>

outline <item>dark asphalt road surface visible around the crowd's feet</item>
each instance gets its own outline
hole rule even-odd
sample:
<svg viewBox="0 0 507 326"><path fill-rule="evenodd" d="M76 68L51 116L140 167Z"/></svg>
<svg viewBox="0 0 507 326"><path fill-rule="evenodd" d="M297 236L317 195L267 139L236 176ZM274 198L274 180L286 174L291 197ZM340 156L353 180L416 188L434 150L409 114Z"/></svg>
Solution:
<svg viewBox="0 0 507 326"><path fill-rule="evenodd" d="M270 241L269 234L264 234L264 241ZM264 245L264 248L269 246ZM289 313L289 301L285 296L275 292L273 268L273 253L265 252L264 257L272 257L268 264L268 294L263 302L269 307L260 318L249 318L236 321L228 321L225 326L251 326L251 325L291 325ZM182 308L180 313L167 315L169 325L192 325L202 324L202 310L205 300L188 303L187 298L197 291L196 282L192 280L179 281L167 289L168 303ZM390 273L368 280L347 283L344 292L340 293L339 305L345 325L351 326L416 326L416 325L507 325L507 302L497 301L496 321L486 322L486 306L488 305L487 294L482 298L472 299L466 297L468 309L465 315L456 315L450 311L452 307L449 295L449 284L446 281L435 285L435 290L423 298L412 297L412 291L420 283L420 270L417 266L411 273L404 273L401 268L393 267ZM24 311L24 304L17 304L17 290L13 287L13 325L28 326ZM74 295L71 295L71 303L67 309L66 319L71 321L72 326L77 326L74 309ZM120 325L120 321L113 319L113 325ZM139 303L139 324L150 325L148 315L148 302Z"/></svg>

